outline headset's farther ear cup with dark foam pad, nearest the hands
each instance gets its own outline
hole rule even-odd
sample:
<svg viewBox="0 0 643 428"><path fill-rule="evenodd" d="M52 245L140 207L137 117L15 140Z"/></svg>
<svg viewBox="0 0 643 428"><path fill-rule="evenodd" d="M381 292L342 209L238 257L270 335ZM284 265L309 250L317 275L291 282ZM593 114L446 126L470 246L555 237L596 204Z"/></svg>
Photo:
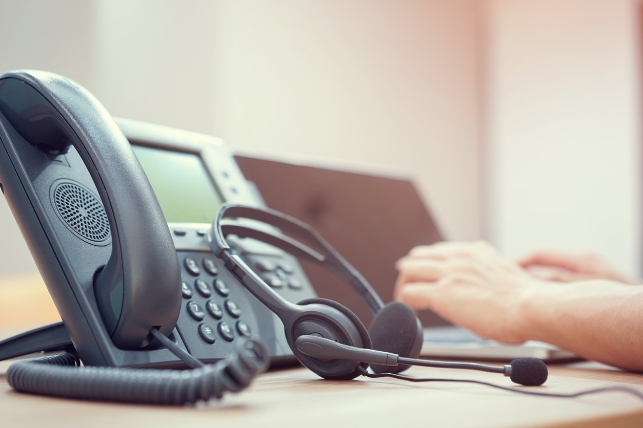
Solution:
<svg viewBox="0 0 643 428"><path fill-rule="evenodd" d="M368 333L373 349L379 351L417 358L422 350L422 324L413 309L403 302L391 302L383 307L371 323ZM370 366L376 373L399 373L409 367Z"/></svg>

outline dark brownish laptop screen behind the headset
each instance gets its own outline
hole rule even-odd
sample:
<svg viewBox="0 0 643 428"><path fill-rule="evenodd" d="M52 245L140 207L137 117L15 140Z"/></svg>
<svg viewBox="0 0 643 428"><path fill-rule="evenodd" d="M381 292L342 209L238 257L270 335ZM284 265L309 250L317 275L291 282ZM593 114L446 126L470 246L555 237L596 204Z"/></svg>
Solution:
<svg viewBox="0 0 643 428"><path fill-rule="evenodd" d="M440 232L410 180L302 166L237 155L242 172L266 205L308 223L370 282L385 303L393 298L394 264L413 246L440 241ZM372 316L347 284L302 262L320 297L348 306L368 326ZM448 325L431 311L422 325Z"/></svg>

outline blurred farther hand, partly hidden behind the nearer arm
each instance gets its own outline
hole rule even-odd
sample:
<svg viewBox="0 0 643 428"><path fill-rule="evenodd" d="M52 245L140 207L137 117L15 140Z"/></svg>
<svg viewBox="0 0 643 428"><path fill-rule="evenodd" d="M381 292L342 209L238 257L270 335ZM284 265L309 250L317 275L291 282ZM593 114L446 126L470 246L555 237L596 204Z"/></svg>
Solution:
<svg viewBox="0 0 643 428"><path fill-rule="evenodd" d="M608 279L625 284L641 282L623 275L607 261L592 253L541 250L523 257L518 264L535 277L550 281Z"/></svg>

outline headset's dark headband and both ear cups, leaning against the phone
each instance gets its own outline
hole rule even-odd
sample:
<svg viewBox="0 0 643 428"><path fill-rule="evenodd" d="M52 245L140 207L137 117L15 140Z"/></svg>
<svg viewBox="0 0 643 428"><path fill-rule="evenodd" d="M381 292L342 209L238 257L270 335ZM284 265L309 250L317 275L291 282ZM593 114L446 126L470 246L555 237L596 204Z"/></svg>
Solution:
<svg viewBox="0 0 643 428"><path fill-rule="evenodd" d="M273 233L269 228L255 228L252 222L239 219L260 221L278 228L282 234ZM298 304L288 302L269 287L243 257L233 252L226 241L228 235L257 239L334 272L350 284L375 316L370 329L367 330L350 309L332 300L310 298ZM401 302L384 305L367 280L302 221L272 209L226 203L219 209L208 233L208 241L226 269L284 323L286 339L297 359L321 377L353 379L368 364L341 359L325 361L305 355L295 346L298 337L321 336L352 347L418 357L422 347L422 328L412 309ZM374 372L401 372L406 368L408 366L371 366Z"/></svg>

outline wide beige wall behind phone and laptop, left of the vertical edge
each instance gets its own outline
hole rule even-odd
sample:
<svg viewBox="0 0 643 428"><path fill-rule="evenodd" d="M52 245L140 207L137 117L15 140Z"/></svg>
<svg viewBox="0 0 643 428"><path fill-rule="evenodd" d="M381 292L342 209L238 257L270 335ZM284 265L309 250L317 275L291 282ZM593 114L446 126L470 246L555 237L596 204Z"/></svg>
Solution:
<svg viewBox="0 0 643 428"><path fill-rule="evenodd" d="M402 171L448 237L480 236L477 1L63 1L33 19L45 4L0 1L0 35L28 39L3 69L68 74L116 116L233 148ZM3 204L21 248L0 272L30 269Z"/></svg>

